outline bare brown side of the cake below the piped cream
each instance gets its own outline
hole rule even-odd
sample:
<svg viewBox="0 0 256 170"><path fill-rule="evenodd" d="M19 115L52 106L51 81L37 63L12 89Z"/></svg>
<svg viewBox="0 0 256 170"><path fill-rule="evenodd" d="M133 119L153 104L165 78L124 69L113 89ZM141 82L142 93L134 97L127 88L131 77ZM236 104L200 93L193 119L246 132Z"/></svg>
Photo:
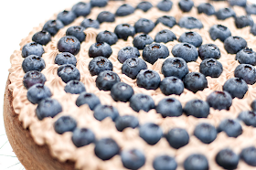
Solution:
<svg viewBox="0 0 256 170"><path fill-rule="evenodd" d="M9 84L8 79L4 101L5 132L20 163L27 170L74 170L73 162L60 163L54 159L49 153L48 145L37 145L29 130L23 128L22 122L18 120L18 114L13 109L13 95L12 91L8 90Z"/></svg>

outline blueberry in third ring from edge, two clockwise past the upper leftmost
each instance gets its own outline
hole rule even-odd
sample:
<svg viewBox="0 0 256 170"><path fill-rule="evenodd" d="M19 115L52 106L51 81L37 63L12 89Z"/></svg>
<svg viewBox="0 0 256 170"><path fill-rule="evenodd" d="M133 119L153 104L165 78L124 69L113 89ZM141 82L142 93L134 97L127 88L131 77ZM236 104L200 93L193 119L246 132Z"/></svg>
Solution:
<svg viewBox="0 0 256 170"><path fill-rule="evenodd" d="M118 38L126 41L129 36L134 36L135 28L129 24L120 24L114 28L114 33Z"/></svg>

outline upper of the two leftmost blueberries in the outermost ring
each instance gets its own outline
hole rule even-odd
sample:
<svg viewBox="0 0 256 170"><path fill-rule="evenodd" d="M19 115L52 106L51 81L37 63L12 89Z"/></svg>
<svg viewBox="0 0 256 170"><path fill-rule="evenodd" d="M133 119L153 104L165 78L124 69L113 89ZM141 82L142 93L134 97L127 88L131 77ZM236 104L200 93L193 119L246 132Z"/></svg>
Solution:
<svg viewBox="0 0 256 170"><path fill-rule="evenodd" d="M45 53L45 50L42 45L37 44L36 42L31 42L27 43L23 48L22 48L22 57L27 58L27 56L30 55L36 55L41 57Z"/></svg>

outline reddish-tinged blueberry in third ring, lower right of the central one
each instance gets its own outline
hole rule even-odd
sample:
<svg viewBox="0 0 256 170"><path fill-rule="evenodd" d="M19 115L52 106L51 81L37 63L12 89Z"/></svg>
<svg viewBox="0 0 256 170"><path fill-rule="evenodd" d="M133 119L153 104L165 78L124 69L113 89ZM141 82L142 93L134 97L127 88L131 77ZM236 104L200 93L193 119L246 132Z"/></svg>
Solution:
<svg viewBox="0 0 256 170"><path fill-rule="evenodd" d="M216 110L229 110L232 105L232 97L227 91L213 91L207 98L209 107Z"/></svg>

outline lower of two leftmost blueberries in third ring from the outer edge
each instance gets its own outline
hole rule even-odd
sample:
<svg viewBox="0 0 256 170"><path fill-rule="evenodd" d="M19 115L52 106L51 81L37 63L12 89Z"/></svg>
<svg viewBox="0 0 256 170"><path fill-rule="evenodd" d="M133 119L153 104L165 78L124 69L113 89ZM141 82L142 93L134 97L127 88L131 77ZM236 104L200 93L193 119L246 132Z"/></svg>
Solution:
<svg viewBox="0 0 256 170"><path fill-rule="evenodd" d="M104 70L112 70L112 61L104 57L93 58L89 63L88 69L91 76L99 75Z"/></svg>

